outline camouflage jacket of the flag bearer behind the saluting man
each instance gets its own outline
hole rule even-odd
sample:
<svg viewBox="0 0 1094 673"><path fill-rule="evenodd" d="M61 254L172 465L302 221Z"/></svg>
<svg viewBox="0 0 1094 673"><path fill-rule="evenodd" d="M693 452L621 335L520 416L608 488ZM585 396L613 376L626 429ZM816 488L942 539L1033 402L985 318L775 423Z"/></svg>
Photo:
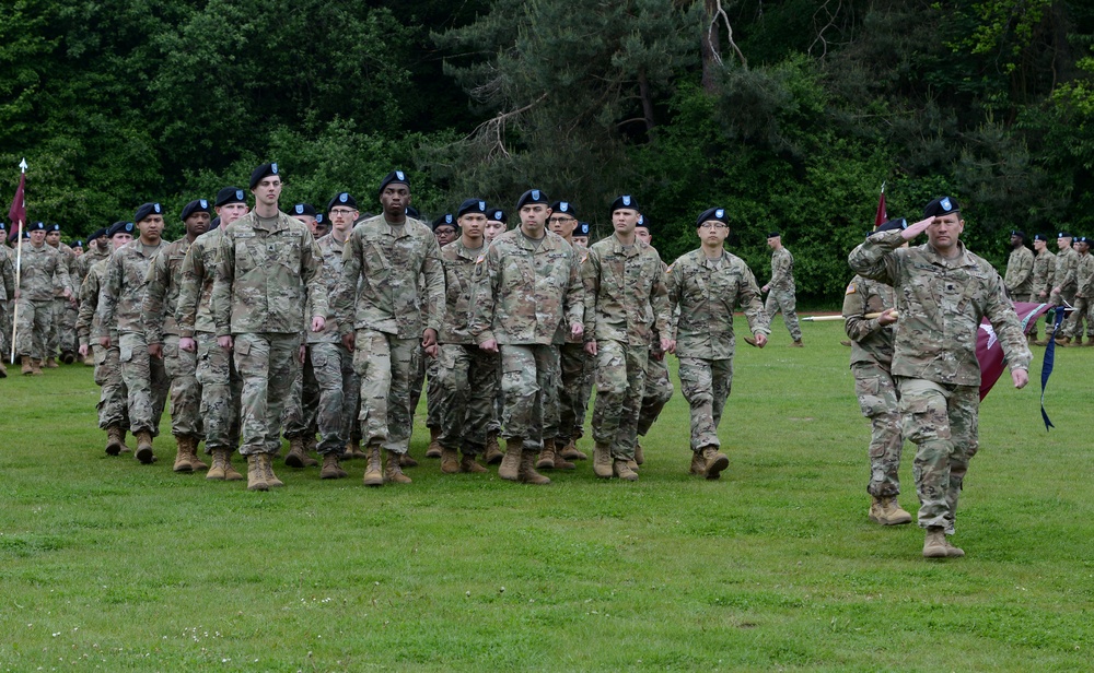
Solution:
<svg viewBox="0 0 1094 673"><path fill-rule="evenodd" d="M896 323L881 324L866 314L896 307L893 288L857 275L843 293L843 331L851 340L851 364L872 363L888 370L893 364Z"/></svg>

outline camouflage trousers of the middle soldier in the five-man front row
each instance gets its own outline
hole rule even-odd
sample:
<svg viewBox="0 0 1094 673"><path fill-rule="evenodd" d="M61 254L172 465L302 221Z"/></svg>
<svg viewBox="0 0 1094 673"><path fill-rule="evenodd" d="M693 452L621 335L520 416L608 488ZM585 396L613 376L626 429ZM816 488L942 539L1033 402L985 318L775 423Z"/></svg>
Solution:
<svg viewBox="0 0 1094 673"><path fill-rule="evenodd" d="M550 385L555 346L501 344L503 437L522 437L525 448L543 441L544 391ZM532 445L532 446L529 446Z"/></svg>

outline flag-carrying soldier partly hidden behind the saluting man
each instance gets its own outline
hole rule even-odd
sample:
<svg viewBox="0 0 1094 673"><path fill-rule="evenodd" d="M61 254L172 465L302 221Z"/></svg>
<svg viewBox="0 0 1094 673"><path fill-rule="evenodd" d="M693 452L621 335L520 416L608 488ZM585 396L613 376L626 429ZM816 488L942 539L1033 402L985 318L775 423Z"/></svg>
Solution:
<svg viewBox="0 0 1094 673"><path fill-rule="evenodd" d="M898 232L907 221L891 220L868 236ZM907 241L903 247L907 247ZM897 318L893 288L857 275L843 294L843 331L851 339L851 374L862 415L870 418L870 520L882 526L911 523L911 515L900 508L899 393L893 380L893 336ZM881 314L866 318L866 314Z"/></svg>

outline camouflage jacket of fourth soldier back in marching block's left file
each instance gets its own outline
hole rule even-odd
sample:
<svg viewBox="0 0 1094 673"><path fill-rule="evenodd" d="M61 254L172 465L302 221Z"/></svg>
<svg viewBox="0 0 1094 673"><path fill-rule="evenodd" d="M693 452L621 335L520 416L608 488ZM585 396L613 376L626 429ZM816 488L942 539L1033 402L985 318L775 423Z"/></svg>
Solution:
<svg viewBox="0 0 1094 673"><path fill-rule="evenodd" d="M146 246L140 238L133 238L110 256L106 262L106 273L98 288L98 326L93 336L109 336L109 330L119 334L143 334L144 317L141 304L144 300L148 270L155 256L167 245L160 239L159 245Z"/></svg>

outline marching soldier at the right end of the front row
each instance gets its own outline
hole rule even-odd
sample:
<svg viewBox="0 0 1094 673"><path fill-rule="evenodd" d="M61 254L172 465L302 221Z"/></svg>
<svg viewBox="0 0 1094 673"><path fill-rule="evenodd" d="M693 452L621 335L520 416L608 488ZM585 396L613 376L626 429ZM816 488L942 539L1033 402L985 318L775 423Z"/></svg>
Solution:
<svg viewBox="0 0 1094 673"><path fill-rule="evenodd" d="M729 467L718 438L733 385L733 308L741 306L757 347L771 333L756 278L744 260L725 251L730 223L723 208L696 219L700 247L666 272L673 343L679 358L680 390L691 415L691 474L715 480Z"/></svg>

